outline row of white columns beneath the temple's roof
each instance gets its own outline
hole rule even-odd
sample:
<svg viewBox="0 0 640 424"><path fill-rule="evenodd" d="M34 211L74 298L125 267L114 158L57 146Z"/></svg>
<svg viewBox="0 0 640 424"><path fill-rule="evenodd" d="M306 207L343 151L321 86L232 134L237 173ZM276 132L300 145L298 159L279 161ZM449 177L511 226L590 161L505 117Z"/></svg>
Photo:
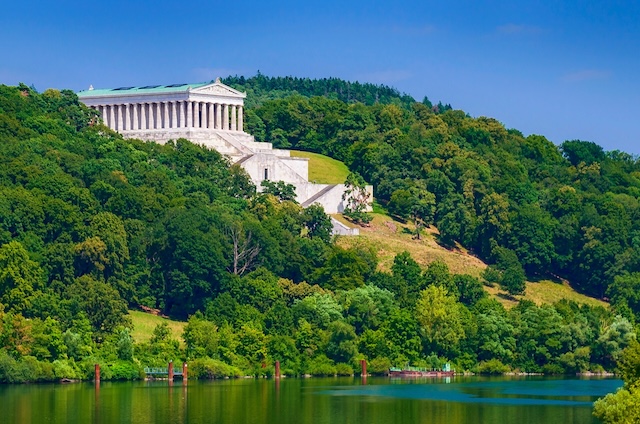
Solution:
<svg viewBox="0 0 640 424"><path fill-rule="evenodd" d="M116 131L163 128L243 131L244 127L241 105L170 101L99 105L93 108L100 112L105 125Z"/></svg>

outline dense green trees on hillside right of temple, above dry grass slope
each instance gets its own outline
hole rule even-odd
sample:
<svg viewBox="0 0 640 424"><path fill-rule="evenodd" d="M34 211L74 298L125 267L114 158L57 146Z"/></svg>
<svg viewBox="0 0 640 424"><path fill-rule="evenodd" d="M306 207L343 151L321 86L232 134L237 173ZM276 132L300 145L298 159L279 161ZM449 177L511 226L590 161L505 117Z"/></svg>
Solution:
<svg viewBox="0 0 640 424"><path fill-rule="evenodd" d="M629 319L640 313L637 157L417 102L296 94L247 113L259 139L344 161L391 214L435 225L444 246L493 264L489 277L514 293L526 277L563 278Z"/></svg>

